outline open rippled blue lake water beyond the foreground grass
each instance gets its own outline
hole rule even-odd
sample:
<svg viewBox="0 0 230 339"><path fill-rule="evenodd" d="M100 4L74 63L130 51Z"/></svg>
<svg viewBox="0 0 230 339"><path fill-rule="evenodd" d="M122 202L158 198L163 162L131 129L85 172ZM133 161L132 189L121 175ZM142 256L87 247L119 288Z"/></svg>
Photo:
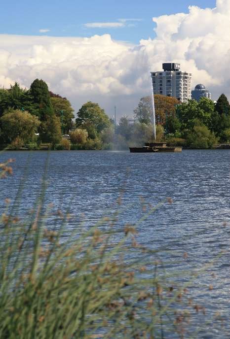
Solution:
<svg viewBox="0 0 230 339"><path fill-rule="evenodd" d="M48 162L47 162L48 156ZM230 151L184 150L182 153L129 153L120 151L4 152L0 162L14 158L13 176L0 180L0 211L4 199L14 199L24 181L21 213L33 207L47 162L46 202L66 211L71 206L73 229L81 220L95 224L117 208L122 192L121 225L142 215L140 197L152 206L166 197L174 203L159 208L138 226L139 242L151 248L165 246L188 259L182 268L199 269L224 251L214 268L194 286L194 298L206 306L207 326L197 338L230 338ZM215 273L215 278L212 277ZM208 286L213 290L208 291ZM197 287L197 289L196 289ZM199 288L198 288L199 287ZM219 313L221 322L212 319ZM228 319L228 320L227 320ZM227 320L227 321L226 321ZM224 325L223 325L224 322ZM173 337L168 337L173 338Z"/></svg>

